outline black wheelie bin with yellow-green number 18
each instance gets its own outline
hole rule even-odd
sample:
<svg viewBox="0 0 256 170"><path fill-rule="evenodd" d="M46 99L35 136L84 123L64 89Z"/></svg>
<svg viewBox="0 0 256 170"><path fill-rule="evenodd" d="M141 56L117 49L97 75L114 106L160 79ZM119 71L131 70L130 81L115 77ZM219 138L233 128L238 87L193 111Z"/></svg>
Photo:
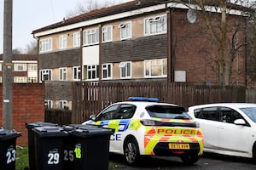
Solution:
<svg viewBox="0 0 256 170"><path fill-rule="evenodd" d="M72 157L73 161L64 166L64 169L108 170L109 139L113 129L90 125L71 127L73 130L69 129L66 147L69 146L70 149L67 153L73 153L73 156L68 156Z"/></svg>

